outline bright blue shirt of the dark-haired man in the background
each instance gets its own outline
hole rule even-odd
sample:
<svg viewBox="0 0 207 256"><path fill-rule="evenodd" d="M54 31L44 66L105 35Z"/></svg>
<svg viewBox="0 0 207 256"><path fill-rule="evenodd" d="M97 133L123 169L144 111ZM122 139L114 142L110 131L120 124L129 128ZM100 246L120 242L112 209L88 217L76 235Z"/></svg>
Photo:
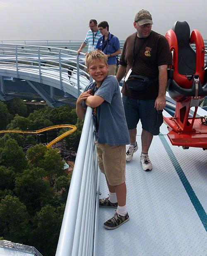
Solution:
<svg viewBox="0 0 207 256"><path fill-rule="evenodd" d="M104 48L104 46L106 47ZM115 51L120 49L118 37L113 36L111 38L111 33L109 32L107 40L105 40L104 36L99 38L99 41L96 44L96 48L103 51L105 54L113 54ZM111 64L116 64L116 56L108 58L108 65Z"/></svg>

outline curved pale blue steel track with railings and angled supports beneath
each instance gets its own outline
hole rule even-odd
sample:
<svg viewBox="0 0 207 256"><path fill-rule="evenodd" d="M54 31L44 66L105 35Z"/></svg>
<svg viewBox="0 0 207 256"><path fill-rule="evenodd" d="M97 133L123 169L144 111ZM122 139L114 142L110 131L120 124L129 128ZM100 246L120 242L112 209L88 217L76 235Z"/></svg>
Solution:
<svg viewBox="0 0 207 256"><path fill-rule="evenodd" d="M22 48L23 47L23 48ZM0 44L0 100L7 100L3 76L24 79L48 102L58 106L54 99L54 88L77 98L88 84L88 73L84 71L84 54L72 56L76 51L46 46ZM72 69L72 70L71 70ZM50 86L48 94L41 84Z"/></svg>

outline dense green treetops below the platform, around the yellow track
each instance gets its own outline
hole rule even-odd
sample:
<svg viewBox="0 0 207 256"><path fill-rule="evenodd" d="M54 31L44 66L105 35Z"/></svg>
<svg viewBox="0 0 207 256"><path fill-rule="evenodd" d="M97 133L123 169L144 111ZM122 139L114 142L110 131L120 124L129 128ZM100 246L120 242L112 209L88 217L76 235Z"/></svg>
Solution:
<svg viewBox="0 0 207 256"><path fill-rule="evenodd" d="M78 130L72 134L73 144L78 144L83 125L74 107L37 110L19 98L0 102L0 119L0 129L13 130L74 124ZM66 129L59 129L54 136L63 132ZM48 142L48 137L5 133L0 138L0 239L35 246L43 256L54 256L72 173L66 175L58 149L47 149L42 144ZM71 149L70 136L65 139ZM24 152L26 144L34 147Z"/></svg>

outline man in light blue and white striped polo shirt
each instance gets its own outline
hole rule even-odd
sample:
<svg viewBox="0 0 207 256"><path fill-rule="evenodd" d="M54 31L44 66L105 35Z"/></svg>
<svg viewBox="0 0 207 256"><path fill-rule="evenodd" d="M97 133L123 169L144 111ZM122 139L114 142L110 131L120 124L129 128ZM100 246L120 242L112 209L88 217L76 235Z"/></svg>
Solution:
<svg viewBox="0 0 207 256"><path fill-rule="evenodd" d="M78 54L82 51L82 49L89 44L88 46L88 52L96 50L96 44L101 37L101 32L99 32L97 21L96 20L90 20L89 21L89 30L87 32L86 38L83 41L82 45L80 46L78 50Z"/></svg>

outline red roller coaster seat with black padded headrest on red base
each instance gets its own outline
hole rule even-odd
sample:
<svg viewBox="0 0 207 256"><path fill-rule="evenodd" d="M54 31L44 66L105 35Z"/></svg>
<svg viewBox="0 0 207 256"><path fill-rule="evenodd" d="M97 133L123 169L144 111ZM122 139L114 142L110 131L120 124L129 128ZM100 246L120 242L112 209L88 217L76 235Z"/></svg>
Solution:
<svg viewBox="0 0 207 256"><path fill-rule="evenodd" d="M207 95L202 36L197 29L190 36L188 23L177 21L165 37L173 58L173 65L168 70L168 93L176 101L174 117L164 117L168 138L173 145L183 148L207 149L207 122L203 117L196 117L200 99ZM196 53L191 43L195 43ZM195 107L193 117L189 116L191 107Z"/></svg>

